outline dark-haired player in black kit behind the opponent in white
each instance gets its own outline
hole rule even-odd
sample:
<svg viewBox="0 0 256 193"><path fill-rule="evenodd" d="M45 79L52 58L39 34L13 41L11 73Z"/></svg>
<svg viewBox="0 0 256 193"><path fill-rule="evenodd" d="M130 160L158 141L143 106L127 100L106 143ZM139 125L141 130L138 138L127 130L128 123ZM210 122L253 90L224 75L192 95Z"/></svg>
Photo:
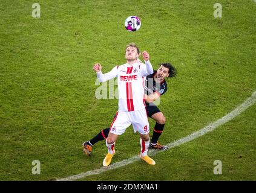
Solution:
<svg viewBox="0 0 256 193"><path fill-rule="evenodd" d="M144 86L146 112L148 114L148 117L156 121L156 125L153 131L153 137L151 138L149 148L157 150L168 149L167 146L160 145L158 143L158 139L163 132L163 128L165 127L165 116L163 116L163 113L153 102L156 101L160 95L163 95L166 92L167 83L165 81L165 78L176 77L176 74L176 69L170 63L161 63L157 71L154 71L153 74L146 77ZM82 144L84 153L90 156L91 151L93 151L93 145L96 144L98 141L107 139L109 131L109 127L105 128L101 130L96 136L94 136L94 138L90 141L85 141Z"/></svg>

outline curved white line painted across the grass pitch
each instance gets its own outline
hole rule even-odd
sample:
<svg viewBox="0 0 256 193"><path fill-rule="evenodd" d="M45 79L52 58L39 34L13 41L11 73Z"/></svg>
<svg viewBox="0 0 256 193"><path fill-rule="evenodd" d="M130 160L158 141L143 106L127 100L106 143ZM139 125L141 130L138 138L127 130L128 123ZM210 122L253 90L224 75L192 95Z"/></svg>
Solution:
<svg viewBox="0 0 256 193"><path fill-rule="evenodd" d="M182 139L179 139L177 141L171 142L171 143L167 144L167 146L171 149L171 148L174 148L176 146L185 144L186 142L192 141L195 138L203 136L204 134L208 133L209 131L213 131L218 126L223 125L226 122L230 121L231 119L235 118L235 116L239 115L241 112L243 112L244 110L248 109L248 107L252 106L255 102L256 102L256 91L254 93L252 93L252 96L249 97L243 104L238 106L232 112L230 112L227 115L223 116L223 118L218 119L217 121L209 124L208 126L200 129L199 131L195 131L194 133L189 134L185 138L182 138ZM163 152L163 151L149 150L148 154L150 156L154 156L154 155L156 155L158 153L161 153L161 152ZM100 174L100 173L108 171L110 169L120 168L122 166L125 166L125 165L128 165L130 163L133 163L133 162L135 162L137 160L140 160L139 156L134 156L134 157L131 157L129 159L122 160L121 162L113 163L113 164L111 164L108 167L102 167L102 168L99 168L99 169L94 169L94 170L91 170L91 171L83 172L81 174L77 174L77 175L74 175L74 176L66 177L66 178L63 178L63 179L57 179L57 180L58 181L72 181L72 180L81 179L81 178L84 178L84 177L87 177L87 176L91 176L91 175L95 175L95 174Z"/></svg>

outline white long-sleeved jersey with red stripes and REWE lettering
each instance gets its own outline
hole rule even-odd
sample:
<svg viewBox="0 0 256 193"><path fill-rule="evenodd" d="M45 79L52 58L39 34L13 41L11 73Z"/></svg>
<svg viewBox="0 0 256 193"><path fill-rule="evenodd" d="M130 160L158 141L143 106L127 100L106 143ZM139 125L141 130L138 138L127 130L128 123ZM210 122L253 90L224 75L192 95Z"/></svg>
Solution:
<svg viewBox="0 0 256 193"><path fill-rule="evenodd" d="M100 81L107 81L117 77L119 92L119 112L131 112L145 108L144 80L147 75L153 74L151 63L128 63L115 66L110 72L97 72Z"/></svg>

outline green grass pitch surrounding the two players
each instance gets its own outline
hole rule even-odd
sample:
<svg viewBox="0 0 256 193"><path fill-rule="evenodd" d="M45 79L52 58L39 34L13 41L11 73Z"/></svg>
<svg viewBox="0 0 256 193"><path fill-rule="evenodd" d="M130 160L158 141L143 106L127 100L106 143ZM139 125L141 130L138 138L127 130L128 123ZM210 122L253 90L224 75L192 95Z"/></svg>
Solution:
<svg viewBox="0 0 256 193"><path fill-rule="evenodd" d="M149 52L154 69L171 62L178 71L159 105L161 144L222 118L256 90L255 1L39 1L40 18L31 16L33 3L1 0L0 180L60 179L102 167L105 142L91 157L81 144L110 126L118 101L97 100L92 67L108 72L125 63L129 42ZM131 15L142 21L134 33L124 27ZM139 151L129 127L112 162ZM79 180L256 180L256 105L153 159L155 166L137 161ZM33 160L40 175L31 172ZM221 175L214 160L222 161Z"/></svg>

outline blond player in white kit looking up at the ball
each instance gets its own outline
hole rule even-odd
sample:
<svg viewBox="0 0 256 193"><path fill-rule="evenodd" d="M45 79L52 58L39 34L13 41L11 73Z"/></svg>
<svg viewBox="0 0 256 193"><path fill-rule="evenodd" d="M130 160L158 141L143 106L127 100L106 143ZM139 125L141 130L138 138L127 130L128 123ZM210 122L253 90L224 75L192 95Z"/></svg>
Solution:
<svg viewBox="0 0 256 193"><path fill-rule="evenodd" d="M110 133L106 140L108 154L103 160L103 166L108 166L114 156L114 145L120 134L123 134L127 127L133 125L134 132L140 133L140 158L150 165L155 165L153 159L148 155L149 147L149 123L145 109L144 99L144 78L153 74L153 67L149 62L148 52L143 52L145 65L137 63L139 49L134 43L126 46L126 63L121 66L115 66L110 72L102 74L102 66L96 63L93 66L97 72L97 78L101 82L117 77L119 90L119 110L117 116L111 124Z"/></svg>

